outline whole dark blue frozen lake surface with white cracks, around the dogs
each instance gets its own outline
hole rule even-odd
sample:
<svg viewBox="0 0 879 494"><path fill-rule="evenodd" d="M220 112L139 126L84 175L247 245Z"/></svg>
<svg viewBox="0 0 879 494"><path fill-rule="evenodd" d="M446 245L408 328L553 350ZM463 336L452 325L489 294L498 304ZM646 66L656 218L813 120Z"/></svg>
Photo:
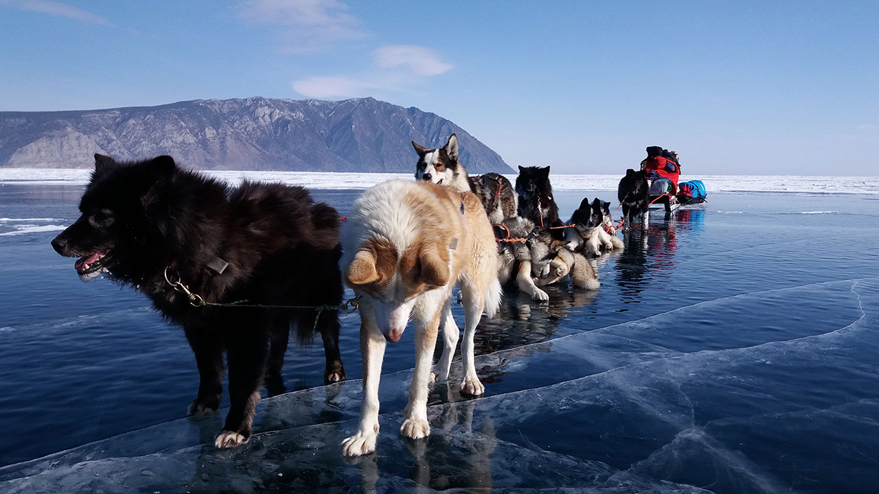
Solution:
<svg viewBox="0 0 879 494"><path fill-rule="evenodd" d="M710 187L710 185L708 185ZM712 194L650 217L598 261L600 290L506 294L476 335L485 396L433 386L432 435L399 437L410 331L386 353L377 454L339 442L360 411L323 349L287 353L290 392L251 441L216 450L225 411L183 418L198 385L183 332L141 294L83 284L52 251L81 187L0 185L0 491L875 492L879 201ZM342 214L357 193L316 191ZM563 219L588 195L556 193ZM41 229L44 228L44 229ZM4 235L5 234L5 235ZM462 312L454 308L462 322ZM460 362L453 373L460 373Z"/></svg>

